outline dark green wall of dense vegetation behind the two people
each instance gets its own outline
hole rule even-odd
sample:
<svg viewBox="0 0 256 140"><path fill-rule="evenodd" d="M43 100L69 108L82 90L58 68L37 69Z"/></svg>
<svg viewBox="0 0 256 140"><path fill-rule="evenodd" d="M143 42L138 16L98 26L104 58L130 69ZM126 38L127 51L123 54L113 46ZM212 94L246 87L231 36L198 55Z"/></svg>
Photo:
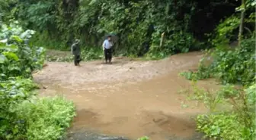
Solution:
<svg viewBox="0 0 256 140"><path fill-rule="evenodd" d="M206 39L205 33L211 33L219 20L234 14L240 3L232 0L11 0L3 4L5 21L15 18L25 28L37 31L31 40L34 45L69 50L72 41L78 38L82 39L84 48L94 48L101 45L106 33L116 33L120 39L115 54L164 58L207 48L200 42Z"/></svg>

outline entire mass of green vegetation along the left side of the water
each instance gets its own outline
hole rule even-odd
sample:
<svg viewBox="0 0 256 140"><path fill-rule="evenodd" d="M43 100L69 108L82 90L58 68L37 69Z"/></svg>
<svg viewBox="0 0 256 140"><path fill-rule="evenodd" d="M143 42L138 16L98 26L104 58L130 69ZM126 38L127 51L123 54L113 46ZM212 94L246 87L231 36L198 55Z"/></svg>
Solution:
<svg viewBox="0 0 256 140"><path fill-rule="evenodd" d="M17 21L0 27L0 139L62 138L75 116L74 105L35 96L38 86L31 77L43 65L44 49L27 44L34 31L22 30Z"/></svg>

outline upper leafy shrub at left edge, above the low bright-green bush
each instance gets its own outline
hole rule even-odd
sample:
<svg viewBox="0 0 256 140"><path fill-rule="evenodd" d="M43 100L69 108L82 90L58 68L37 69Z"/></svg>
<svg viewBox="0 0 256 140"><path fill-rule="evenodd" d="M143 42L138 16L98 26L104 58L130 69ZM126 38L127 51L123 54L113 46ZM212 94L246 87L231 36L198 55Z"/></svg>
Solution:
<svg viewBox="0 0 256 140"><path fill-rule="evenodd" d="M29 77L33 70L42 67L44 49L26 43L33 34L33 30L22 30L18 22L1 26L0 72L3 76Z"/></svg>

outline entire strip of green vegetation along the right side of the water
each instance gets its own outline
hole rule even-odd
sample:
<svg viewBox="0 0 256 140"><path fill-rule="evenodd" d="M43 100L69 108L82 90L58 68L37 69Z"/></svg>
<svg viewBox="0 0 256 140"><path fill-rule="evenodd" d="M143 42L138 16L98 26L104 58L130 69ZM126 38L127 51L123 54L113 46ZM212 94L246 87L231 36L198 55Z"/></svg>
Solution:
<svg viewBox="0 0 256 140"><path fill-rule="evenodd" d="M194 94L190 98L203 101L210 110L210 114L197 116L197 130L208 138L256 138L255 5L255 1L242 1L241 7L237 8L241 17L233 15L216 27L209 39L214 48L200 61L198 70L181 73L194 81ZM236 34L238 27L239 33ZM238 45L231 46L234 37L238 39ZM210 92L196 86L198 79L211 77L224 85L219 91Z"/></svg>

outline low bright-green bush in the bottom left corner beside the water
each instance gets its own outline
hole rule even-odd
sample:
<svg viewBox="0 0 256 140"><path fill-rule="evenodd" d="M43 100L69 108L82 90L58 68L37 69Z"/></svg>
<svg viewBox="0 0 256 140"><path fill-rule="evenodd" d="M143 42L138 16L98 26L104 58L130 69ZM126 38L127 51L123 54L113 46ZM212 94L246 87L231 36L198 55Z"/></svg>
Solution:
<svg viewBox="0 0 256 140"><path fill-rule="evenodd" d="M64 98L32 98L37 85L31 79L0 82L0 139L59 139L75 116Z"/></svg>

